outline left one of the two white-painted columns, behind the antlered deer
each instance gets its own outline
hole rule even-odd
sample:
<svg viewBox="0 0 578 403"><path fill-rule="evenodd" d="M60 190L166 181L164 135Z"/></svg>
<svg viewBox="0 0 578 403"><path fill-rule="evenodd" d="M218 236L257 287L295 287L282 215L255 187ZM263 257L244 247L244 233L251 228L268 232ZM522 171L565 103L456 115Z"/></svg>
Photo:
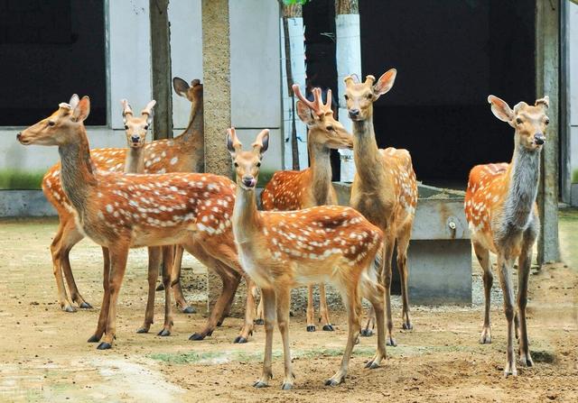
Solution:
<svg viewBox="0 0 578 403"><path fill-rule="evenodd" d="M305 88L305 43L303 31L303 18L292 17L287 18L287 26L289 28L289 41L291 49L291 70L293 73L293 80L295 84L299 84L304 93ZM287 89L287 70L285 69L285 47L284 47L284 32L283 19L279 23L281 34L281 66L282 66L282 82L283 88L283 127L284 127L284 169L292 169L293 157L291 153L291 133L293 124L293 111L295 111L295 128L297 137L299 139L299 167L301 169L309 166L309 159L307 158L307 126L297 116L297 106L294 108L291 105L291 97ZM294 99L296 102L296 98Z"/></svg>

